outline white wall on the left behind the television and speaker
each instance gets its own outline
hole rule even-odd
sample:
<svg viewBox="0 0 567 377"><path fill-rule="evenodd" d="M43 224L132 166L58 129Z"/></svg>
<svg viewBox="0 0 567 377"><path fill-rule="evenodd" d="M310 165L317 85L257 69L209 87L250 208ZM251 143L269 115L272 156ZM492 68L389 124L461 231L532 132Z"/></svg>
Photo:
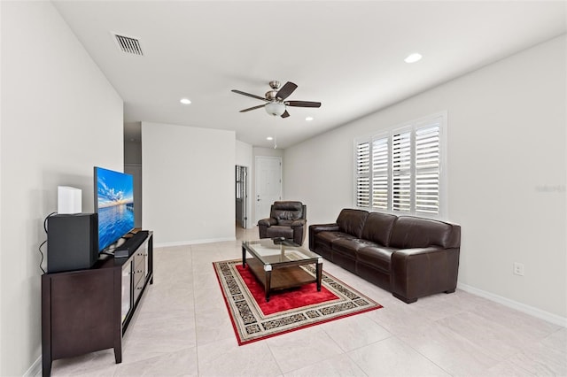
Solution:
<svg viewBox="0 0 567 377"><path fill-rule="evenodd" d="M37 249L57 186L82 188L83 212L93 211L93 166L122 169L123 117L50 2L1 6L0 375L12 376L33 373L41 355Z"/></svg>

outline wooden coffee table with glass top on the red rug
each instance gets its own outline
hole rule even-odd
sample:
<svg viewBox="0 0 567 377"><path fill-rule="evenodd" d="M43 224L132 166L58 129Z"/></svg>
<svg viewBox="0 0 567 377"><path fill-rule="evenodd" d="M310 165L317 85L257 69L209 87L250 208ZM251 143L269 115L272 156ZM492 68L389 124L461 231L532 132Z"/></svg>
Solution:
<svg viewBox="0 0 567 377"><path fill-rule="evenodd" d="M246 251L253 258L246 260ZM315 278L300 265L315 264ZM270 292L316 282L321 291L322 257L289 241L263 239L242 242L242 265L250 268L264 286L266 301Z"/></svg>

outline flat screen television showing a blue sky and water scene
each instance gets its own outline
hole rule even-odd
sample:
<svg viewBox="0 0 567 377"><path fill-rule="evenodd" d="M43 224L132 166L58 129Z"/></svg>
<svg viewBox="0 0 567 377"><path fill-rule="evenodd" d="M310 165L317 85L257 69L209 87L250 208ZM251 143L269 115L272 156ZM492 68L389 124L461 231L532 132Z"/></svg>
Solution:
<svg viewBox="0 0 567 377"><path fill-rule="evenodd" d="M98 213L98 250L134 229L134 177L95 166L95 211Z"/></svg>

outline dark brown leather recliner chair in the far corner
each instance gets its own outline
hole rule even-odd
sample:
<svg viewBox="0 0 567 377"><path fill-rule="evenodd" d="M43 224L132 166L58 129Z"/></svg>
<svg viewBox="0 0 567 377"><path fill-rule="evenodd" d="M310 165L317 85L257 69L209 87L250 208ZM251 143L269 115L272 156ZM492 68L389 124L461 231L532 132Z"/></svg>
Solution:
<svg viewBox="0 0 567 377"><path fill-rule="evenodd" d="M260 238L283 237L298 245L306 235L307 207L301 202L280 201L272 204L268 219L258 221Z"/></svg>

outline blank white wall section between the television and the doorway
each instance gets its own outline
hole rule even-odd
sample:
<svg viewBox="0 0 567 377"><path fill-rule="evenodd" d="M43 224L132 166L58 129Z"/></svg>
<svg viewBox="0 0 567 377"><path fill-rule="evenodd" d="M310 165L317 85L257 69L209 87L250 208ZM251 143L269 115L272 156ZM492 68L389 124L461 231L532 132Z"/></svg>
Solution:
<svg viewBox="0 0 567 377"><path fill-rule="evenodd" d="M158 246L235 239L233 131L142 122L142 224Z"/></svg>

